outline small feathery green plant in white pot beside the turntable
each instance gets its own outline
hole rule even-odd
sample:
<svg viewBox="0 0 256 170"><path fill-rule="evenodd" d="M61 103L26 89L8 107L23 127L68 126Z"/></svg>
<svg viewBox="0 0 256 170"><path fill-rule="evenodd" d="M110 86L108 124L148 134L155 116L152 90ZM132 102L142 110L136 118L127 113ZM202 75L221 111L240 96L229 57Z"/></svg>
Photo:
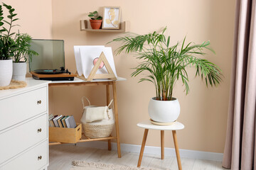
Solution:
<svg viewBox="0 0 256 170"><path fill-rule="evenodd" d="M32 38L30 35L17 33L15 38L16 48L13 57L13 77L17 81L25 81L28 56L31 60L32 55L38 55L37 52L29 49Z"/></svg>

